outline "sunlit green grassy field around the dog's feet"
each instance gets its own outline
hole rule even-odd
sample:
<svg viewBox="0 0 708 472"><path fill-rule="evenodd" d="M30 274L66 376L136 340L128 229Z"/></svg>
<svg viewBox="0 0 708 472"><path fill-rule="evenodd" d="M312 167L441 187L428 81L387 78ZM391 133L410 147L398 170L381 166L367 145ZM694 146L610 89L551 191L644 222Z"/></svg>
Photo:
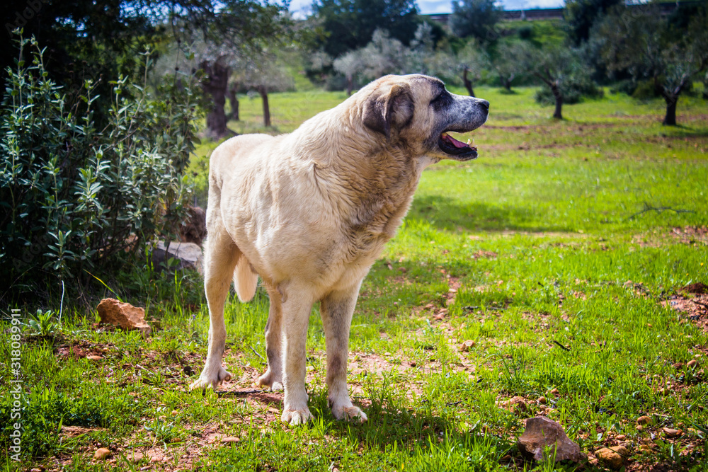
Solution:
<svg viewBox="0 0 708 472"><path fill-rule="evenodd" d="M317 308L307 345L314 422L283 425L282 393L254 390L265 357L262 289L250 304L227 305L234 380L219 394L188 392L207 343L200 279L136 268L111 288L134 287L127 301L147 306L152 337L98 326L95 311L59 320L58 307L25 326L21 469L578 468L524 463L515 446L523 420L546 415L589 454L586 470L604 470L595 451L619 444L628 471L708 470L708 310L687 301L708 299L683 289L708 284L707 103L682 98L681 126L667 128L660 100L607 94L566 106L558 122L532 89L478 93L491 102L489 122L472 134L479 159L423 173L362 286L348 369L367 423L329 412ZM260 100L244 98L243 121L229 126L288 132L343 98L274 94L268 130L258 125ZM214 147L202 144L192 163L198 199ZM11 357L8 327L2 359ZM11 374L0 364L4 388ZM11 403L0 401L0 427ZM99 447L112 456L94 460Z"/></svg>

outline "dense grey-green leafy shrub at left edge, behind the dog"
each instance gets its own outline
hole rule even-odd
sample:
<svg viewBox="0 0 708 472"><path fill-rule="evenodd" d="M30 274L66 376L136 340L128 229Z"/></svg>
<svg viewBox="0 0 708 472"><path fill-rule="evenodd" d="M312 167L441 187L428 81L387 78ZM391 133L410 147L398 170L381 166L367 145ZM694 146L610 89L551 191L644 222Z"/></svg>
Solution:
<svg viewBox="0 0 708 472"><path fill-rule="evenodd" d="M0 263L8 268L0 277L26 293L118 265L176 229L190 194L183 171L196 108L189 88L165 86L170 98L159 100L119 77L109 125L98 130L95 84L66 93L47 78L34 38L21 39L20 50L0 105ZM129 87L137 98L125 98Z"/></svg>

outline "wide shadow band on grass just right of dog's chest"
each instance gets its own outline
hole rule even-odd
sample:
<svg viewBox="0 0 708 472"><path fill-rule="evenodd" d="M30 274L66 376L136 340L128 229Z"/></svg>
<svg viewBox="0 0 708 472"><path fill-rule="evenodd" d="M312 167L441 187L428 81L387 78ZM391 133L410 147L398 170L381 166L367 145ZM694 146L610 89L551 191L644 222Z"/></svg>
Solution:
<svg viewBox="0 0 708 472"><path fill-rule="evenodd" d="M416 197L406 221L421 220L445 231L557 231L574 233L564 224L539 224L543 215L509 204L463 203L440 195Z"/></svg>

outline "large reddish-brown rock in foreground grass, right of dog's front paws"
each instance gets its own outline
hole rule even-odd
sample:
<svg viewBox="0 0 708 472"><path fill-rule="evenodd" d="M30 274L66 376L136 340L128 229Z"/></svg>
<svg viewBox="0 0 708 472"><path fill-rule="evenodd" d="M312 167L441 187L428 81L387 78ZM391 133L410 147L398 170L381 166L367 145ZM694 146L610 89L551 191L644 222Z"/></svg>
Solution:
<svg viewBox="0 0 708 472"><path fill-rule="evenodd" d="M586 460L580 447L571 441L558 422L543 416L526 420L526 430L519 437L517 446L527 459L542 461L544 449L555 447L557 461L581 462ZM551 449L550 454L553 454Z"/></svg>

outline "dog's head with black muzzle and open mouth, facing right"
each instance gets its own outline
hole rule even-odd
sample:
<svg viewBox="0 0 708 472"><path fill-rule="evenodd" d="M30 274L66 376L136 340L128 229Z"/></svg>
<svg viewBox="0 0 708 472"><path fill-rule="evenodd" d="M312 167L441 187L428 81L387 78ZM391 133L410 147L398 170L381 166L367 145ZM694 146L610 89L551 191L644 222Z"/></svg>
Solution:
<svg viewBox="0 0 708 472"><path fill-rule="evenodd" d="M439 79L423 75L384 76L360 91L366 127L414 154L468 161L476 147L448 132L470 132L484 125L489 102L455 95Z"/></svg>

